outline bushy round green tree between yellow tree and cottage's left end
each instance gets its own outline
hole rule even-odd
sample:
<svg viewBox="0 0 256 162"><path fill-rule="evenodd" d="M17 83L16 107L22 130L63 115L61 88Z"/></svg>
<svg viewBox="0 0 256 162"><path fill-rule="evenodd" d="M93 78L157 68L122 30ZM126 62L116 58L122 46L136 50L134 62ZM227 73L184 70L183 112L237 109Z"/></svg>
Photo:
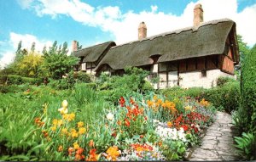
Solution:
<svg viewBox="0 0 256 162"><path fill-rule="evenodd" d="M61 79L62 75L72 70L73 65L76 64L79 59L74 56L67 56L67 52L67 42L64 42L62 46L60 45L58 47L55 41L52 47L49 47L48 51L44 49L44 64L42 68L47 70L47 76L54 79Z"/></svg>

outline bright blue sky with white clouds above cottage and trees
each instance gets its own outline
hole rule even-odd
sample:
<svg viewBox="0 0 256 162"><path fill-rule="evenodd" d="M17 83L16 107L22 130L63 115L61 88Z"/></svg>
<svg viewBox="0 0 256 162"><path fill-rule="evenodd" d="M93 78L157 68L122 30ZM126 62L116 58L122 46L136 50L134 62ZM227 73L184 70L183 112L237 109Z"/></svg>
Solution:
<svg viewBox="0 0 256 162"><path fill-rule="evenodd" d="M256 0L0 0L0 68L15 56L18 43L41 52L79 41L83 47L102 42L137 40L144 21L148 36L193 25L193 8L201 3L204 21L228 18L249 47L256 43Z"/></svg>

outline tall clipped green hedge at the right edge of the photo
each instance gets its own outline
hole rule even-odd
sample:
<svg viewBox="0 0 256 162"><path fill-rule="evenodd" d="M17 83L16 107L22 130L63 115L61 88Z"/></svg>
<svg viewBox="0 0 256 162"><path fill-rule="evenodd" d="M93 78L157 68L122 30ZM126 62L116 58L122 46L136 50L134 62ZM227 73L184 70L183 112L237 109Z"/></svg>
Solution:
<svg viewBox="0 0 256 162"><path fill-rule="evenodd" d="M244 131L256 133L256 45L241 66L241 115Z"/></svg>

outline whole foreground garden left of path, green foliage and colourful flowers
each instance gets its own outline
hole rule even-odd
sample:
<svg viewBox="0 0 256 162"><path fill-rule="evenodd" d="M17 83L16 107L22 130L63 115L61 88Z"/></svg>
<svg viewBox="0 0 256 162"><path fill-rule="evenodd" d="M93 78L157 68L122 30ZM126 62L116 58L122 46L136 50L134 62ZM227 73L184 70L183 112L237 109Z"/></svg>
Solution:
<svg viewBox="0 0 256 162"><path fill-rule="evenodd" d="M180 160L211 122L205 100L132 92L114 106L88 84L0 94L1 160Z"/></svg>

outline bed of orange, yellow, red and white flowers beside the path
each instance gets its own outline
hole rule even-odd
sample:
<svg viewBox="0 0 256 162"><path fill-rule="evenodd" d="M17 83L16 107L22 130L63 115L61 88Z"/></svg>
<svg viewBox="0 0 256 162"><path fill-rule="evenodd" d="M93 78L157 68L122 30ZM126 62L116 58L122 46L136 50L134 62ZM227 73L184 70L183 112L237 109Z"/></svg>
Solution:
<svg viewBox="0 0 256 162"><path fill-rule="evenodd" d="M102 119L87 125L76 120L81 114L68 112L67 101L61 105L55 119L47 108L35 119L44 143L48 143L45 152L55 160L183 159L214 115L204 99L121 97L118 106L104 109Z"/></svg>

